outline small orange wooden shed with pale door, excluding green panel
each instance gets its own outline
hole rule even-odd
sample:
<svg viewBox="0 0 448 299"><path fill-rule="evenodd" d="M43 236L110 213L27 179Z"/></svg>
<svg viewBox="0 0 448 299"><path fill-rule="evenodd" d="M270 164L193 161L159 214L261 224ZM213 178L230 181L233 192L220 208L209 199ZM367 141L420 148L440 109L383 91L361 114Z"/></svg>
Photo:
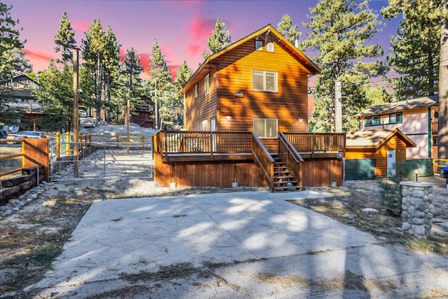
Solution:
<svg viewBox="0 0 448 299"><path fill-rule="evenodd" d="M345 159L374 159L375 176L385 178L395 163L406 162L406 148L410 147L416 144L399 129L348 132Z"/></svg>

